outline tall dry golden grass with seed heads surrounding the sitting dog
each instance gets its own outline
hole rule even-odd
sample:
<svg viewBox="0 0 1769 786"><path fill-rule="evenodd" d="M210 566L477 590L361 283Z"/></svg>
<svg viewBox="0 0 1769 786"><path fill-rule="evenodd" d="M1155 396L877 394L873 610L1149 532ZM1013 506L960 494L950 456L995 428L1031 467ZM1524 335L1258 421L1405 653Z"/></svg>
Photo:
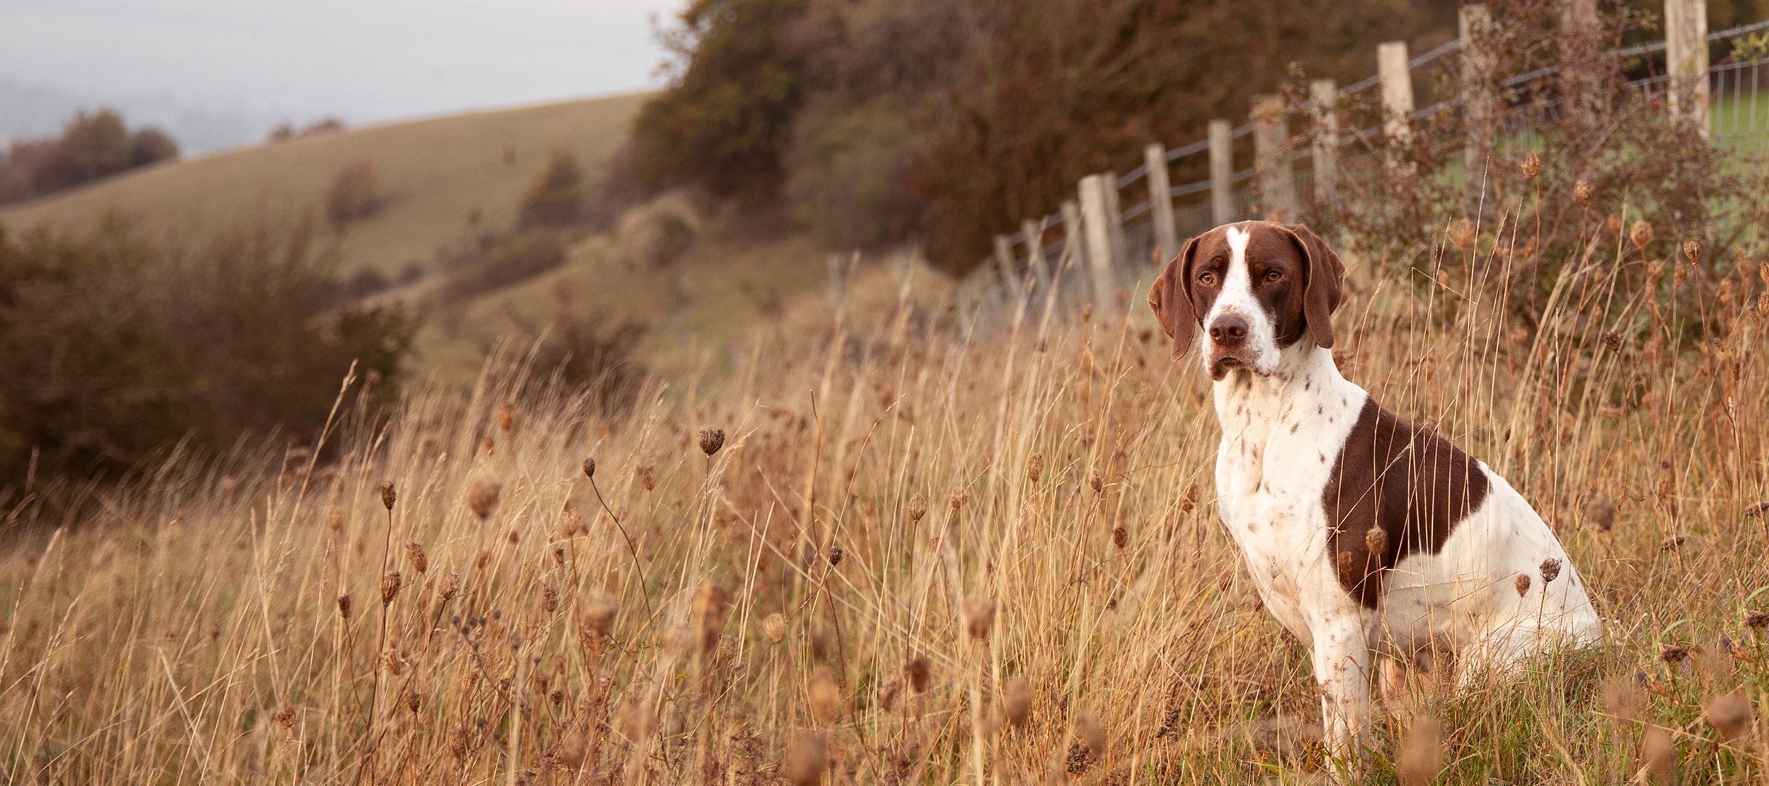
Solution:
<svg viewBox="0 0 1769 786"><path fill-rule="evenodd" d="M1509 476L1608 620L1596 651L1389 706L1371 779L1769 775L1769 614L1748 616L1769 607L1769 281L1739 266L1711 343L1638 343L1597 317L1656 315L1619 271L1682 257L1592 243L1532 340L1449 271L1357 281L1337 315L1346 375ZM1465 246L1454 269L1497 274L1525 243ZM1122 304L973 342L849 313L614 421L564 393L509 405L522 370L497 366L340 428L318 467L172 466L0 561L0 770L1320 777L1307 659L1215 522L1208 381Z"/></svg>

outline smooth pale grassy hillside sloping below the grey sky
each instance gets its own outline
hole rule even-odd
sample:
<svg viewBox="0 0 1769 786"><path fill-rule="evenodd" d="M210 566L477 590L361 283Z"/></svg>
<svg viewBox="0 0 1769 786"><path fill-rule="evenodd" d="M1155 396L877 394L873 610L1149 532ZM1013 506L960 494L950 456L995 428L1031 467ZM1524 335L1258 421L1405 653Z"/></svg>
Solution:
<svg viewBox="0 0 1769 786"><path fill-rule="evenodd" d="M508 227L524 186L555 145L593 172L624 142L644 99L439 117L175 161L7 207L0 225L12 232L80 228L115 211L180 237L205 237L260 212L318 211L338 170L368 161L386 207L338 241L350 269L394 274L412 260L428 264L437 246L467 232L474 211L486 227Z"/></svg>

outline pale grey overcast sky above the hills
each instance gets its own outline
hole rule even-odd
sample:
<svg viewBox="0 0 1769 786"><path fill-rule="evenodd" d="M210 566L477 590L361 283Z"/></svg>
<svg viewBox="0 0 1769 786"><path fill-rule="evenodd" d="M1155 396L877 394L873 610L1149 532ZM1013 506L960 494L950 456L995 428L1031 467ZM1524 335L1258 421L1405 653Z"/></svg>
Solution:
<svg viewBox="0 0 1769 786"><path fill-rule="evenodd" d="M683 4L0 0L0 80L361 124L655 87Z"/></svg>

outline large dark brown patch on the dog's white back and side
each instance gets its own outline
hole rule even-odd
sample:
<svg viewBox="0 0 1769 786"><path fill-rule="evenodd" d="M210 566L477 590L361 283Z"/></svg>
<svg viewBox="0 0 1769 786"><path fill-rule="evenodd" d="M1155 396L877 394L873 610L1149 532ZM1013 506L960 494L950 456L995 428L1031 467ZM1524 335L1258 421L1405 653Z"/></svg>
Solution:
<svg viewBox="0 0 1769 786"><path fill-rule="evenodd" d="M1413 552L1436 554L1486 492L1468 453L1367 398L1321 494L1339 586L1375 609L1382 572Z"/></svg>

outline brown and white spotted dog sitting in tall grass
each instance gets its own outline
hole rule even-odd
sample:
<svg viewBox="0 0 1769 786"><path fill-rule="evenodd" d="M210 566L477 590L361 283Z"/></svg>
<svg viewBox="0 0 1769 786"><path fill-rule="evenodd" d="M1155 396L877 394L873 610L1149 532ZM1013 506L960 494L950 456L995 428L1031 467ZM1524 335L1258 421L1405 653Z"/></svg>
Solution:
<svg viewBox="0 0 1769 786"><path fill-rule="evenodd" d="M1339 756L1362 744L1376 657L1392 690L1433 653L1452 653L1465 683L1597 639L1578 570L1530 503L1339 375L1343 276L1307 227L1244 221L1194 237L1148 292L1175 359L1203 328L1222 524L1265 607L1309 646Z"/></svg>

